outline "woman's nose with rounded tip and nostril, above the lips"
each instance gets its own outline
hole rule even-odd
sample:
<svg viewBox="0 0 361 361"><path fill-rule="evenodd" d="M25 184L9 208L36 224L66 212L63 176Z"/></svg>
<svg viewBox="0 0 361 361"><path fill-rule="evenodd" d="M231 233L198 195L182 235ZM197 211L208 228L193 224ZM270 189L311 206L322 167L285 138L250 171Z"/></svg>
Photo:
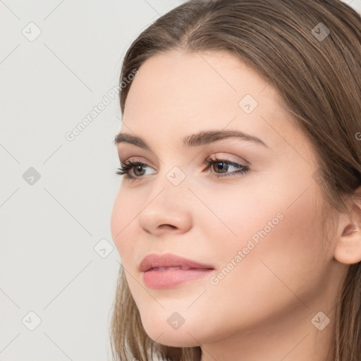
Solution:
<svg viewBox="0 0 361 361"><path fill-rule="evenodd" d="M185 184L175 186L161 183L161 187L154 186L138 216L139 226L157 236L189 231L192 227L191 195Z"/></svg>

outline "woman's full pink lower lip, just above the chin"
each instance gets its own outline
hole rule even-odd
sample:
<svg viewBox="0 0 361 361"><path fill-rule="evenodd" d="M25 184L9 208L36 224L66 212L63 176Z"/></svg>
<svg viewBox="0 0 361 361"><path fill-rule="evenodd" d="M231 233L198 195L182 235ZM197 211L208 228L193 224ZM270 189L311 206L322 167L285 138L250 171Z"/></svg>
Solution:
<svg viewBox="0 0 361 361"><path fill-rule="evenodd" d="M214 269L165 269L144 272L143 279L149 288L171 288L179 284L209 275Z"/></svg>

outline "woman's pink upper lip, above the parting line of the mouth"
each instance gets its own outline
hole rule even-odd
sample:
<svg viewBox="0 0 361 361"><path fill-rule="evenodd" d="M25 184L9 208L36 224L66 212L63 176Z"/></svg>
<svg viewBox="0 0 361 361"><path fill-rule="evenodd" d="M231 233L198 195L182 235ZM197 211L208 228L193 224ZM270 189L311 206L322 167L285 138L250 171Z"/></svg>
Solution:
<svg viewBox="0 0 361 361"><path fill-rule="evenodd" d="M184 268L201 268L201 269L214 269L212 265L202 264L199 262L192 261L191 259L186 259L177 255L172 255L171 253L166 253L163 255L157 255L156 253L151 253L147 255L142 262L140 262L139 269L142 272L149 271L149 269L155 267L184 267Z"/></svg>

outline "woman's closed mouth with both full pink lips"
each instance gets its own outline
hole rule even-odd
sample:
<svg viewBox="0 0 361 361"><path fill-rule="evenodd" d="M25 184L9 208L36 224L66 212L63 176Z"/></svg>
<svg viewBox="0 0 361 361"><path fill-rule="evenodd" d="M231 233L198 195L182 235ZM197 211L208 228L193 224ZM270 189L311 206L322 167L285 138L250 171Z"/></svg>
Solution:
<svg viewBox="0 0 361 361"><path fill-rule="evenodd" d="M214 271L209 264L176 255L147 255L140 264L143 281L148 288L173 288L185 281L194 281Z"/></svg>

